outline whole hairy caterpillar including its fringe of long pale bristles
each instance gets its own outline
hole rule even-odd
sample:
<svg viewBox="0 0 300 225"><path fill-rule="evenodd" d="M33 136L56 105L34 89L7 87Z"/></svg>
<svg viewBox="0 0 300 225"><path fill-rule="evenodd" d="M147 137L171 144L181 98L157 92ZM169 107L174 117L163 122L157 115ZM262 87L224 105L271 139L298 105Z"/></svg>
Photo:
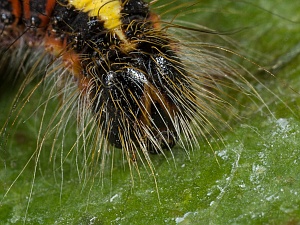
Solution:
<svg viewBox="0 0 300 225"><path fill-rule="evenodd" d="M32 67L20 77L25 81L6 115L1 148L6 149L8 128L17 126L23 109L44 86L46 98L41 98L36 110L44 122L28 160L34 161L35 174L47 150L51 160L59 163L62 183L69 158L71 164L76 161L80 179L88 180L99 173L99 167L104 173L109 155L120 153L131 173L134 169L140 173L143 165L156 181L152 154L166 159L171 154L173 159L175 151L190 154L198 151L201 141L209 146L222 140L219 130L230 129L228 121L239 118L240 96L264 104L249 81L255 77L231 61L228 53L243 57L207 41L211 36L226 39L226 32L161 20L151 9L156 4L0 1L1 66L6 66L7 55L14 57L19 50L34 55L21 63ZM31 90L23 97L27 87ZM52 99L58 102L54 109ZM76 133L74 140L69 139L74 138L72 133ZM31 190L30 199L32 194Z"/></svg>

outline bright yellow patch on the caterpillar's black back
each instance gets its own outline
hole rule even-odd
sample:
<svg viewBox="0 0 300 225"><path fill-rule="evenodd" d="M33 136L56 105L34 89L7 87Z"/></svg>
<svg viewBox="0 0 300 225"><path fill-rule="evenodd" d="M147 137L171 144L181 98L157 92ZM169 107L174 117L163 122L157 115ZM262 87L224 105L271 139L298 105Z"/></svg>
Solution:
<svg viewBox="0 0 300 225"><path fill-rule="evenodd" d="M119 27L121 22L121 3L119 0L69 0L76 9L98 17L104 21L106 29Z"/></svg>

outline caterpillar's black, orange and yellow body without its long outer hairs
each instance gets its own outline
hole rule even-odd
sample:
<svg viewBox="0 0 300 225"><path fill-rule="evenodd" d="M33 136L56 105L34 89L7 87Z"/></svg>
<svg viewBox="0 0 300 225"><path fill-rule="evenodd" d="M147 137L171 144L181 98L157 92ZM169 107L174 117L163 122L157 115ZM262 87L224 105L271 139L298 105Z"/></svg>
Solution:
<svg viewBox="0 0 300 225"><path fill-rule="evenodd" d="M177 55L177 41L161 29L149 4L142 0L1 0L0 4L1 43L43 45L61 58L108 145L159 153L182 142L181 133L193 136L187 127L197 97Z"/></svg>

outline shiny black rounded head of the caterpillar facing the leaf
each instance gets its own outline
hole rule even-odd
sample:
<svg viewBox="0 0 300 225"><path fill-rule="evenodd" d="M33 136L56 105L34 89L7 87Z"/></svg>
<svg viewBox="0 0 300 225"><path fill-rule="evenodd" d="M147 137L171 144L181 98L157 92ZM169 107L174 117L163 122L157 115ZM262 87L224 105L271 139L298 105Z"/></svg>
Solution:
<svg viewBox="0 0 300 225"><path fill-rule="evenodd" d="M172 148L180 134L182 102L187 102L183 91L189 90L174 52L145 41L135 51L118 52L106 62L107 68L100 63L95 70L92 99L109 142L153 153Z"/></svg>

